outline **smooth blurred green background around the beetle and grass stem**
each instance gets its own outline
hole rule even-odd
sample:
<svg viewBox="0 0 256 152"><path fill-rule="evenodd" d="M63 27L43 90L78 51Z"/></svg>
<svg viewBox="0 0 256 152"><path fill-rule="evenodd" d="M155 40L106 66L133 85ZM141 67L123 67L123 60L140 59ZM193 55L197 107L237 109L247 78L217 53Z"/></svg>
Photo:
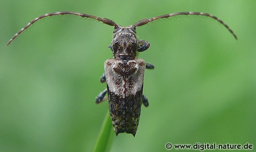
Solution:
<svg viewBox="0 0 256 152"><path fill-rule="evenodd" d="M8 40L32 19L74 11L128 26L181 11L213 14L161 19L137 28L150 48L138 132L114 137L111 151L167 151L167 142L239 143L256 149L256 1L134 0L0 2L0 151L92 151L108 103L99 78L111 58L113 27L50 17Z"/></svg>

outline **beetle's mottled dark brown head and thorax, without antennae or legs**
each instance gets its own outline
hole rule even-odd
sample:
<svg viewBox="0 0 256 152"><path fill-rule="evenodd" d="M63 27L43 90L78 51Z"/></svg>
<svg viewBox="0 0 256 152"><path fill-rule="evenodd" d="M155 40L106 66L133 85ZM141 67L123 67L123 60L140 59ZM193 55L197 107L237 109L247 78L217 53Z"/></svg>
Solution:
<svg viewBox="0 0 256 152"><path fill-rule="evenodd" d="M114 30L111 50L116 59L134 59L138 51L138 39L134 26L117 26Z"/></svg>

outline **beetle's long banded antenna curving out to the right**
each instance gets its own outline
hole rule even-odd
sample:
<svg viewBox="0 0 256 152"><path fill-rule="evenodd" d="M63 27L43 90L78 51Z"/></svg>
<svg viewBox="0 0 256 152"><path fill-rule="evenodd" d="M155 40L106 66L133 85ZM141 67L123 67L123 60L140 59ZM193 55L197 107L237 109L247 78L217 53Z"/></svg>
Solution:
<svg viewBox="0 0 256 152"><path fill-rule="evenodd" d="M203 16L207 16L207 17L211 17L215 20L217 20L220 24L222 24L226 29L229 30L229 32L235 37L235 39L237 40L237 37L235 35L235 33L233 32L233 30L231 30L231 28L229 28L229 26L224 23L221 19L219 19L218 17L216 16L213 16L213 15L210 15L208 13L201 13L201 12L177 12L177 13L171 13L171 14L166 14L166 15L161 15L161 16L156 16L156 17L153 17L153 18L145 18L145 19L142 19L140 21L138 21L137 23L134 24L135 27L138 27L138 26L143 26L149 22L152 22L152 21L155 21L156 19L161 19L161 18L169 18L169 17L172 17L172 16L177 16L177 15L203 15Z"/></svg>

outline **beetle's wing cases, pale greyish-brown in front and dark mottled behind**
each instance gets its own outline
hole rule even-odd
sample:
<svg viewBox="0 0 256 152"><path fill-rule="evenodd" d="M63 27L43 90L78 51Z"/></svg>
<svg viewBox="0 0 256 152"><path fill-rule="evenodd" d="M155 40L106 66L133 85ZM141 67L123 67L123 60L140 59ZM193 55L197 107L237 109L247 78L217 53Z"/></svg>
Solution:
<svg viewBox="0 0 256 152"><path fill-rule="evenodd" d="M135 58L124 63L111 58L105 62L105 71L110 115L116 135L126 132L135 136L142 104L145 62Z"/></svg>

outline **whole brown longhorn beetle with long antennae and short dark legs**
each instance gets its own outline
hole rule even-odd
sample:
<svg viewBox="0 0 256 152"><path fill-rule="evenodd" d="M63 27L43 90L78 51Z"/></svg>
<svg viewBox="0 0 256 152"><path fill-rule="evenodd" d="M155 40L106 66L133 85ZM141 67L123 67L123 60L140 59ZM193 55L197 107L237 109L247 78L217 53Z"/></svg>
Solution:
<svg viewBox="0 0 256 152"><path fill-rule="evenodd" d="M113 39L108 46L113 52L113 58L108 59L104 63L105 73L101 76L100 82L107 83L107 89L102 91L96 97L96 104L107 100L105 97L108 93L108 107L110 116L116 135L119 133L130 133L135 136L138 129L141 104L145 107L149 106L148 99L143 92L144 71L146 69L154 69L153 64L146 63L141 58L136 58L137 52L143 52L149 48L149 43L145 40L138 40L136 36L136 27L143 26L149 22L153 22L161 18L169 18L177 15L202 15L211 17L221 23L229 32L237 39L233 30L229 28L222 20L216 16L202 12L177 12L161 15L149 19L142 19L127 27L117 25L110 19L100 18L88 14L77 12L53 12L41 15L18 33L16 33L7 43L8 46L18 35L25 29L30 27L36 21L55 15L76 15L85 18L92 18L99 22L103 22L114 27Z"/></svg>

